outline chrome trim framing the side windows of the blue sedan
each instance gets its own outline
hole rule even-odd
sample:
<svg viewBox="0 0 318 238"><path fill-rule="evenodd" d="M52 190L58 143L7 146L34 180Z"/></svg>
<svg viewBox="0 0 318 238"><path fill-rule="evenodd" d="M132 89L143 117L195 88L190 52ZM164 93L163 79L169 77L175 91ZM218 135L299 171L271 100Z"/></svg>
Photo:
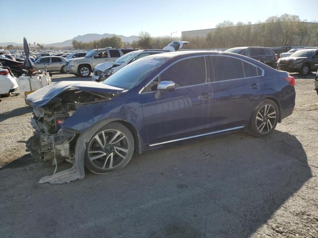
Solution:
<svg viewBox="0 0 318 238"><path fill-rule="evenodd" d="M181 61L181 60L187 60L187 59L191 59L191 58L198 58L198 57L213 57L213 56L220 56L220 57L230 57L230 58L234 58L234 59L238 59L238 60L242 60L242 61L244 61L244 62L246 62L246 63L249 63L249 64L251 64L251 65L253 65L253 66L255 66L256 67L256 73L257 73L257 68L260 68L261 70L262 70L262 74L261 75L258 75L257 74L257 76L253 76L253 77L244 77L244 78L255 78L255 77L261 77L261 76L264 76L264 74L265 74L265 70L263 69L263 68L261 68L261 67L259 67L259 66L257 66L256 64L254 64L254 63L251 63L251 62L249 62L249 61L247 61L247 60L244 60L244 59L240 59L240 58L238 58L238 57L234 57L234 56L227 56L227 55L216 55L216 54L211 54L211 55L200 55L200 56L189 56L189 57L186 57L186 58L182 58L182 59L179 59L179 60L176 60L176 61L174 61L173 63L171 63L171 64L169 64L168 66L166 66L164 69L162 69L158 74L156 74L156 76L155 77L153 77L144 87L142 87L140 90L139 90L139 92L138 92L138 94L143 94L143 93L151 93L151 92L143 92L142 93L142 91L152 82L152 81L154 81L163 71L165 71L166 69L168 69L169 67L171 67L173 64L175 64L175 63L177 63L177 62L179 62L179 61ZM215 71L214 71L214 65L213 65L213 62L212 62L212 67L213 67L213 73L214 73L214 81L213 82L211 82L211 83L215 83L215 82L223 82L223 81L229 81L229 80L237 80L237 79L243 79L243 78L233 78L233 79L227 79L227 80L222 80L222 81L216 81L216 78L215 78ZM243 69L244 69L244 67L243 67ZM205 79L205 81L206 81L206 79ZM207 83L207 82L206 82ZM200 84L194 84L194 85L188 85L188 86L182 86L182 87L178 87L178 88L183 88L183 87L189 87L189 86L195 86L195 85L200 85ZM177 89L177 88L176 88ZM156 92L156 91L153 91L153 92Z"/></svg>

